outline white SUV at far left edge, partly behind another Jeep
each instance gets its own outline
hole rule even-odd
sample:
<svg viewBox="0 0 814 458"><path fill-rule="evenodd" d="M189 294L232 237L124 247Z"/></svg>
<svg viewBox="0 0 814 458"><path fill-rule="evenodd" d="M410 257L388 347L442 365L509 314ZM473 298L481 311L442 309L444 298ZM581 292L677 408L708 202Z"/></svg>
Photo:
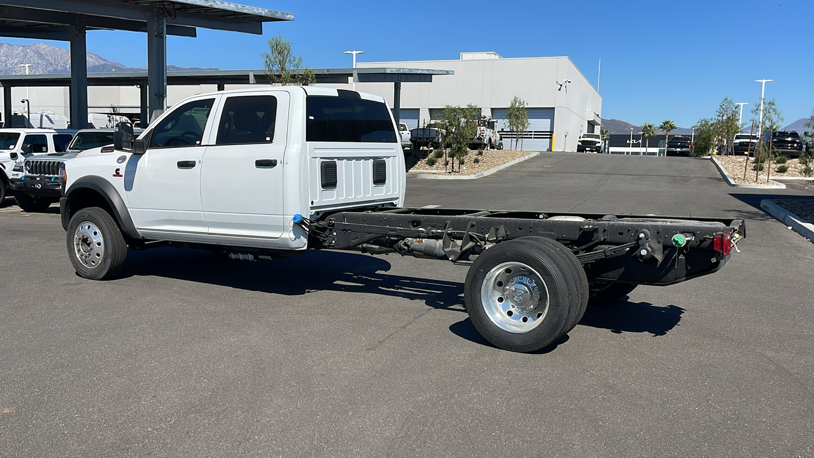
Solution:
<svg viewBox="0 0 814 458"><path fill-rule="evenodd" d="M15 163L31 155L64 152L76 130L0 129L0 204L11 192Z"/></svg>

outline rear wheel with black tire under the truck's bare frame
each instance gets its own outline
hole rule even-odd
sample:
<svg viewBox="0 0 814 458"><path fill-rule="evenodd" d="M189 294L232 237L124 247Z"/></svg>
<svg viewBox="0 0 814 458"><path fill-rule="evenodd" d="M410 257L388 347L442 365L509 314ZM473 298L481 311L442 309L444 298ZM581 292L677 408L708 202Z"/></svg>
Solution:
<svg viewBox="0 0 814 458"><path fill-rule="evenodd" d="M579 306L558 257L529 240L509 240L475 258L464 297L472 324L503 350L540 350L562 337Z"/></svg>

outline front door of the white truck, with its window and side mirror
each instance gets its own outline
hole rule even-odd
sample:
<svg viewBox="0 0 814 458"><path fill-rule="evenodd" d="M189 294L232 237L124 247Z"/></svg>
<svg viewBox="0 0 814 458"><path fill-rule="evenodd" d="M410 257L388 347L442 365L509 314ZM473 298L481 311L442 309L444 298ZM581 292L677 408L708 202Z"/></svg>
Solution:
<svg viewBox="0 0 814 458"><path fill-rule="evenodd" d="M173 108L143 136L147 152L116 169L125 174L130 214L140 231L207 232L201 207L201 161L204 133L212 124L209 113L219 98L192 100Z"/></svg>

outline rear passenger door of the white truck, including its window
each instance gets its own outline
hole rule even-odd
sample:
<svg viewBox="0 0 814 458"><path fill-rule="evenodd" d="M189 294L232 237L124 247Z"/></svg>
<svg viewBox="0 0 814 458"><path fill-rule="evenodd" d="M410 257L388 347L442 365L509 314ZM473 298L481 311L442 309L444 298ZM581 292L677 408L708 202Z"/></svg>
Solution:
<svg viewBox="0 0 814 458"><path fill-rule="evenodd" d="M287 229L282 173L289 95L226 96L204 153L201 200L210 236L276 239ZM245 240L245 239L243 239Z"/></svg>

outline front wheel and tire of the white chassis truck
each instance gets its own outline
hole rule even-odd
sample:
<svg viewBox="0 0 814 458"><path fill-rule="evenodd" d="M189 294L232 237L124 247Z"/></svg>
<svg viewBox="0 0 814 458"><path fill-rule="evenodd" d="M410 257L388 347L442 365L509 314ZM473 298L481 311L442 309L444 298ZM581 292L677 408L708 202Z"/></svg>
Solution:
<svg viewBox="0 0 814 458"><path fill-rule="evenodd" d="M104 209L77 211L68 222L68 258L81 277L109 280L116 276L127 257L127 244L116 220Z"/></svg>

